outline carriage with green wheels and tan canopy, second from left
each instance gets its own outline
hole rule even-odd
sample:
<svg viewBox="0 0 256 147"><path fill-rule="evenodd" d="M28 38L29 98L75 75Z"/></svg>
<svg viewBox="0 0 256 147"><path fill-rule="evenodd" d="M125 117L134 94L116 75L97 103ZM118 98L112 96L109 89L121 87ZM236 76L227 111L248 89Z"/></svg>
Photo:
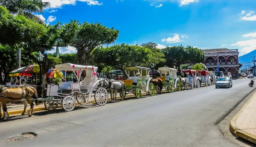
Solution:
<svg viewBox="0 0 256 147"><path fill-rule="evenodd" d="M142 91L148 92L151 96L155 94L155 86L150 83L149 70L149 68L140 66L125 67L125 72L128 75L128 79L123 80L126 87L125 95L132 92L136 98L140 98Z"/></svg>

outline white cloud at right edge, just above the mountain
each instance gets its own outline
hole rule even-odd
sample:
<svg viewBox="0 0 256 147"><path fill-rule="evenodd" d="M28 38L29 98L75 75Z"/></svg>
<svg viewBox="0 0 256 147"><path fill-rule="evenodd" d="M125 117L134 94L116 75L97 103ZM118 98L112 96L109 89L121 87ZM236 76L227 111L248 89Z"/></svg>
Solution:
<svg viewBox="0 0 256 147"><path fill-rule="evenodd" d="M231 46L243 47L242 49L239 49L239 56L242 56L256 49L256 39L239 41L231 44Z"/></svg>

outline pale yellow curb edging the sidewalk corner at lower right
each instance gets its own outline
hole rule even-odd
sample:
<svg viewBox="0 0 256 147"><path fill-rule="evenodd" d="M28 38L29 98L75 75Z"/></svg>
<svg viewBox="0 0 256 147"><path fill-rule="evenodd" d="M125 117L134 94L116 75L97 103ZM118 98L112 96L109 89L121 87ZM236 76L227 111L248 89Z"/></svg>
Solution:
<svg viewBox="0 0 256 147"><path fill-rule="evenodd" d="M241 115L241 113L244 111L244 109L247 107L247 105L250 103L251 99L255 95L256 95L256 92L251 96L251 98L246 102L246 104L244 104L244 106L236 114L236 116L230 121L230 132L233 136L244 138L250 142L253 142L254 144L256 144L256 136L250 133L244 132L243 130L240 130L236 125L236 119Z"/></svg>

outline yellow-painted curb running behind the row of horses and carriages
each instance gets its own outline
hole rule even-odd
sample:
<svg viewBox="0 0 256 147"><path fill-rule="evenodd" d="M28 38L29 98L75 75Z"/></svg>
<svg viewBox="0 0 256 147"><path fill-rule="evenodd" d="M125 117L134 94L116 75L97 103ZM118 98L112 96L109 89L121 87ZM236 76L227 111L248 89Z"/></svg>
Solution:
<svg viewBox="0 0 256 147"><path fill-rule="evenodd" d="M166 89L163 89L162 90L162 92L166 92ZM143 92L143 93L141 93L141 95L147 95L147 92ZM129 94L129 95L126 95L125 96L125 98L133 98L133 97L135 97L134 96L134 94ZM118 100L118 99L121 99L121 97L120 96L116 96L116 100ZM111 100L111 98L108 98L108 101L110 101ZM95 100L94 100L94 98L93 98L93 100L91 100L89 103L87 103L87 104L94 104L94 103L96 103L95 102ZM76 106L79 106L80 104L78 104L77 102L76 102ZM61 107L61 105L58 105L58 108L62 108ZM43 110L47 110L47 109L45 109L45 107L37 107L37 106L34 106L34 112L37 112L37 111L43 111ZM27 112L29 111L29 109L27 109ZM12 110L12 111L8 111L8 113L9 113L9 115L14 115L14 114L21 114L23 112L23 109L22 110ZM2 116L3 116L3 112L2 112Z"/></svg>

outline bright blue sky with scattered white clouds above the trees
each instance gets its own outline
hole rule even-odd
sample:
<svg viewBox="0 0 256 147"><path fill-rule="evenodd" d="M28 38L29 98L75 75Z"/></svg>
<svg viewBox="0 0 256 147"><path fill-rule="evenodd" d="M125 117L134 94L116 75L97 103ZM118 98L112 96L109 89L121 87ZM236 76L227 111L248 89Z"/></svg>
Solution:
<svg viewBox="0 0 256 147"><path fill-rule="evenodd" d="M256 0L42 0L48 24L70 19L119 29L116 43L256 49ZM76 52L73 47L60 53Z"/></svg>

